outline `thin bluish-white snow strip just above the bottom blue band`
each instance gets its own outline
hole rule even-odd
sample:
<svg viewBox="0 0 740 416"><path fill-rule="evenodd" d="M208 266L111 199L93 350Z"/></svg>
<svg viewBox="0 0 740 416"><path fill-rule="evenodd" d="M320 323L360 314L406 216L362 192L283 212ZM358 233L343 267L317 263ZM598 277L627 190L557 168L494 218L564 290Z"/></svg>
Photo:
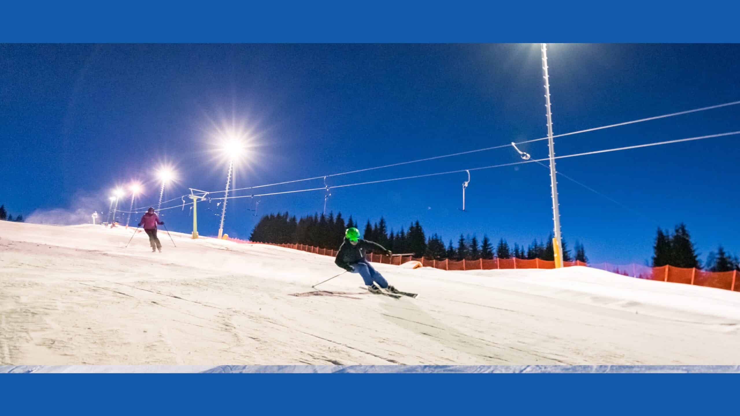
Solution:
<svg viewBox="0 0 740 416"><path fill-rule="evenodd" d="M41 374L41 373L283 373L283 374L343 374L343 373L740 373L740 366L0 366L0 374Z"/></svg>

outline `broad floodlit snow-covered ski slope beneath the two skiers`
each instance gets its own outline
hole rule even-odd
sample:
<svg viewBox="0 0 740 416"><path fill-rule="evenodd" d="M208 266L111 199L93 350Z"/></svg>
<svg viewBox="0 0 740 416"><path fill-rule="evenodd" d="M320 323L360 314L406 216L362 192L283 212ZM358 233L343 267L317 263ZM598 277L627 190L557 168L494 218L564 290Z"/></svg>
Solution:
<svg viewBox="0 0 740 416"><path fill-rule="evenodd" d="M164 230L0 221L0 364L736 364L740 293L596 269L377 264ZM312 292L312 293L311 293Z"/></svg>

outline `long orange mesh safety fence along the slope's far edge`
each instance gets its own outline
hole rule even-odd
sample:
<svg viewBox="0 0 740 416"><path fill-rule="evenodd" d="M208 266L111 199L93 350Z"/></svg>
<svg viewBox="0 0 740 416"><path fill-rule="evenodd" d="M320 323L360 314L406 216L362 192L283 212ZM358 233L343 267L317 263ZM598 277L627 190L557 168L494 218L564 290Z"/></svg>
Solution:
<svg viewBox="0 0 740 416"><path fill-rule="evenodd" d="M235 241L240 244L258 244L251 241L244 241L238 238L226 238L229 241ZM269 244L269 243L262 243ZM287 249L296 249L304 252L311 252L318 255L336 256L337 250L323 249L315 246L306 246L306 244L269 244L272 246L281 246ZM531 260L522 258L492 258L477 260L454 261L450 259L434 260L428 258L416 258L411 255L380 255L368 253L367 261L382 264L393 264L400 266L407 261L418 261L424 267L433 267L441 270L494 270L494 269L554 269L555 262L534 258ZM586 264L582 261L564 261L563 266L589 266L595 269L602 269L619 275L630 276L633 278L647 279L652 281L664 281L670 283L693 284L696 286L716 287L718 289L727 289L734 292L740 292L740 279L738 271L730 272L707 272L699 269L686 269L683 267L661 266L650 267L639 264Z"/></svg>

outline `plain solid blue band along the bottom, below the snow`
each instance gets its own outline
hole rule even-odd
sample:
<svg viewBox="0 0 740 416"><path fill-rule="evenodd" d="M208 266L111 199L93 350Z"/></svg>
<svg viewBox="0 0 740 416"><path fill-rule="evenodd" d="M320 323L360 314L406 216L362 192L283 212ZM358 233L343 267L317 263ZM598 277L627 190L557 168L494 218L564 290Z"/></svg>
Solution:
<svg viewBox="0 0 740 416"><path fill-rule="evenodd" d="M2 375L6 415L727 415L739 375L249 374ZM7 413L5 413L7 412Z"/></svg>

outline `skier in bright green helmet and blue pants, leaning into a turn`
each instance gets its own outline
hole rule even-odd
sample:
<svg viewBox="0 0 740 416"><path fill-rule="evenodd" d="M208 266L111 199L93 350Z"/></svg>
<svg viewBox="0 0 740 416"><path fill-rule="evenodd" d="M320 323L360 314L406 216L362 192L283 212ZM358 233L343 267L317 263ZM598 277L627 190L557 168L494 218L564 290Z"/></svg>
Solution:
<svg viewBox="0 0 740 416"><path fill-rule="evenodd" d="M380 293L380 289L373 284L379 284L383 289L388 289L391 292L396 292L396 288L389 285L383 275L380 275L373 266L365 259L366 249L379 249L386 253L386 255L393 254L390 250L381 246L380 244L372 241L363 240L360 238L360 230L352 227L348 228L342 245L339 247L337 253L337 259L334 263L351 273L359 273L363 277L363 281L368 286L368 290L371 293Z"/></svg>

